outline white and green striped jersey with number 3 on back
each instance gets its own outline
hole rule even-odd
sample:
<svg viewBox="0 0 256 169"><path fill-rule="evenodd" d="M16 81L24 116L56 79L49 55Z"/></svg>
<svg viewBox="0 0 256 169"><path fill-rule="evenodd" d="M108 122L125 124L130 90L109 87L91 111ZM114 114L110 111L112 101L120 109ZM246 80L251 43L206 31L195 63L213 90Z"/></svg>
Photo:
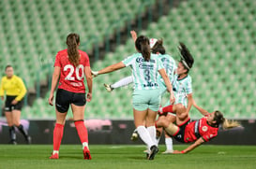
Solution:
<svg viewBox="0 0 256 169"><path fill-rule="evenodd" d="M142 53L135 53L122 61L132 69L134 90L158 89L158 70L164 68L157 54L151 53L150 61L143 59Z"/></svg>

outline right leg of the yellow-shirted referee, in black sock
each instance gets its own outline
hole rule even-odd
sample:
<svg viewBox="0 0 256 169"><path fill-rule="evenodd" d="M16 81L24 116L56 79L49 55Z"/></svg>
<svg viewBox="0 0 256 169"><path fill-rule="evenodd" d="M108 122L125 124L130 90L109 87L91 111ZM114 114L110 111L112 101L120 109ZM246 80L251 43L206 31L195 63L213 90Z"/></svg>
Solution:
<svg viewBox="0 0 256 169"><path fill-rule="evenodd" d="M28 135L27 131L23 128L23 124L20 122L21 114L22 112L19 109L12 110L13 124L19 129L21 134L23 134L27 144L31 144L31 137Z"/></svg>

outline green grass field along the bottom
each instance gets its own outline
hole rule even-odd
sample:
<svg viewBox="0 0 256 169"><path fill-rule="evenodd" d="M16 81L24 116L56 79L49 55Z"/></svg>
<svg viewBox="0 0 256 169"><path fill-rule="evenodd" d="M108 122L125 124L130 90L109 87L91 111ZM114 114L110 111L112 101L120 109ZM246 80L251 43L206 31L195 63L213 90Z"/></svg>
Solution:
<svg viewBox="0 0 256 169"><path fill-rule="evenodd" d="M91 145L92 160L83 160L82 146L62 145L60 159L50 160L53 146L0 145L0 169L6 168L175 168L175 169L246 169L256 168L256 147L204 145L188 154L163 155L145 160L144 146ZM176 149L186 148L175 146Z"/></svg>

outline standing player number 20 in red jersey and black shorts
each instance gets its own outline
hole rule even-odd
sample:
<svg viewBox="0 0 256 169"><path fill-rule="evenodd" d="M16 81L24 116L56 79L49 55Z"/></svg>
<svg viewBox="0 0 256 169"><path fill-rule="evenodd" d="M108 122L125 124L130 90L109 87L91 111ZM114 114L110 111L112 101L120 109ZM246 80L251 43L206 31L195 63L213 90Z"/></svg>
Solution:
<svg viewBox="0 0 256 169"><path fill-rule="evenodd" d="M69 34L67 45L68 49L61 50L56 55L52 89L48 100L49 104L53 106L53 92L59 79L55 99L56 123L53 131L53 154L50 159L59 158L65 120L69 105L71 105L74 123L83 144L83 159L91 160L87 129L83 123L86 101L90 102L92 99L93 81L89 57L84 51L78 49L80 45L79 35ZM88 86L86 99L83 84L84 75Z"/></svg>

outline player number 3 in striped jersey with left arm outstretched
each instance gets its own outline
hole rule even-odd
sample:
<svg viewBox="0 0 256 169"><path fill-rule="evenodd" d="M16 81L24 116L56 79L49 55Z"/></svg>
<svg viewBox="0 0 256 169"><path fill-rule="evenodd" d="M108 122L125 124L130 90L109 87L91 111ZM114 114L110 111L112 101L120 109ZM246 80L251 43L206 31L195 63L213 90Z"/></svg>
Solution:
<svg viewBox="0 0 256 169"><path fill-rule="evenodd" d="M134 79L132 96L134 123L143 142L150 148L148 160L153 160L158 153L155 142L155 120L160 104L158 73L163 77L168 91L171 92L171 102L173 102L173 89L158 56L150 53L149 39L140 35L135 41L135 47L139 53L135 53L124 61L110 65L98 72L92 71L92 74L98 76L126 66L131 67ZM145 119L147 120L147 128L144 126Z"/></svg>

